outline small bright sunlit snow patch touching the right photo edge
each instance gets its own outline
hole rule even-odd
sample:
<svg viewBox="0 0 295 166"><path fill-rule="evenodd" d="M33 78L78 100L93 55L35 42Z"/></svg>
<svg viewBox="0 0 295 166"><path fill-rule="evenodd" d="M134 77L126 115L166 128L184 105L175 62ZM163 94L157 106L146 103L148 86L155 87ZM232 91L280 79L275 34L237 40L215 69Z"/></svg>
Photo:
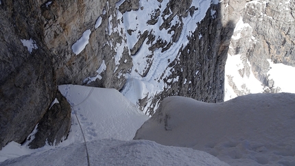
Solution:
<svg viewBox="0 0 295 166"><path fill-rule="evenodd" d="M268 60L268 62L270 63L268 79L274 80L274 88L281 88L280 92L295 93L295 78L290 76L290 73L295 72L295 67L282 63L274 64L271 60Z"/></svg>

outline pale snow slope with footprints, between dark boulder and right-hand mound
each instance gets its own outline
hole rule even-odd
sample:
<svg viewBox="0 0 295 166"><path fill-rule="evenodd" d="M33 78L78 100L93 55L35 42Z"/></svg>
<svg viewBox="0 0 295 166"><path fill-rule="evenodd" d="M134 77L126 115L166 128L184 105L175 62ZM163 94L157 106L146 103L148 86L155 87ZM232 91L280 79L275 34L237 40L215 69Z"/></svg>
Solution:
<svg viewBox="0 0 295 166"><path fill-rule="evenodd" d="M136 130L148 119L115 89L61 85L59 90L72 106L71 131L67 140L58 145L60 147L84 141L74 110L82 125L86 141L99 139L129 141L134 137ZM27 144L9 143L0 151L0 162L8 158L55 148L45 145L37 150L29 150Z"/></svg>

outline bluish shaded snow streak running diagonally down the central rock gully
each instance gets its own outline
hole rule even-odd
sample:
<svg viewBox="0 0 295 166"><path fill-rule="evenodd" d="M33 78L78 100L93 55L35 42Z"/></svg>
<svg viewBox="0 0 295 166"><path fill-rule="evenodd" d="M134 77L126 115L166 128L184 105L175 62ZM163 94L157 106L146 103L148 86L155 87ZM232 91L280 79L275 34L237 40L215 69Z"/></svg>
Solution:
<svg viewBox="0 0 295 166"><path fill-rule="evenodd" d="M123 25L126 31L125 34L127 46L129 49L132 49L134 47L135 43L137 43L137 41L139 40L140 34L143 34L143 32L145 31L154 34L154 36L156 36L156 40L162 40L163 42L167 41L167 43L172 42L172 35L174 33L169 34L169 28L159 29L159 27L164 22L163 17L164 19L167 19L170 16L162 16L163 10L165 10L168 2L168 0L163 0L161 3L156 0L140 1L139 6L144 6L143 10L132 10L130 12L125 12L124 14L122 14ZM158 8L158 6L160 5L162 6L162 8ZM137 51L137 54L132 56L132 71L129 75L126 75L129 81L127 82L125 88L123 88L121 93L123 93L124 96L128 97L128 99L130 99L133 104L137 104L139 99L143 99L135 99L134 96L149 98L144 112L147 111L147 108L152 102L151 97L158 93L161 93L161 91L164 90L165 86L167 86L165 85L163 79L168 78L168 76L171 74L169 70L172 69L172 67L168 67L169 62L174 61L179 56L179 50L181 50L184 45L187 45L187 37L191 36L192 32L195 31L197 23L204 19L207 10L211 6L211 1L192 1L191 6L198 7L198 10L196 10L196 12L192 16L182 18L183 28L180 34L180 38L178 39L178 41L176 41L176 43L172 43L172 46L169 49L163 52L162 49L156 49L152 53L152 51L150 51L149 49L151 44L147 45L147 39L145 39L143 45L141 45L139 51ZM161 12L160 16L158 17L158 21L154 25L147 25L146 21L150 20L151 14L154 13L156 9L159 9ZM174 16L171 22L171 26L176 25L176 23L180 23L180 18L178 18L177 15ZM128 34L128 29L131 29L133 31L131 35ZM201 38L202 36L199 37ZM147 58L149 56L151 58ZM152 62L152 64L150 64L149 62ZM145 75L145 77L142 77L145 71L147 71L148 66L150 66L150 70ZM142 94L138 94L139 92L137 92L135 95L133 95L133 86L141 86L143 87L143 89L145 89L145 91L141 91Z"/></svg>

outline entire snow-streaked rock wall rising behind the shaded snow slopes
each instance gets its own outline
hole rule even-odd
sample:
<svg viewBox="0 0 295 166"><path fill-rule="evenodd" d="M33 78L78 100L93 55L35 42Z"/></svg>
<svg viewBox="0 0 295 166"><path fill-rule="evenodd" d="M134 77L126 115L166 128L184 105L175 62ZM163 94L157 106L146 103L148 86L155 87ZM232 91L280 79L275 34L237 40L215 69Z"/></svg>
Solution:
<svg viewBox="0 0 295 166"><path fill-rule="evenodd" d="M267 84L265 57L294 62L294 1L282 2L290 10L279 10L272 1L256 2L1 0L0 148L10 141L25 141L37 124L39 132L57 124L63 129L39 134L43 137L35 139L41 141L32 147L41 146L49 134L54 136L49 144L67 135L71 109L60 98L60 84L116 88L147 115L170 95L222 102L224 79L231 80L224 78L228 54L248 58L251 67L241 71L252 69ZM248 15L259 11L272 19ZM252 31L245 29L243 38L234 40L241 18ZM263 28L268 23L275 25L269 26L274 32L283 23L289 27L269 36ZM252 44L244 38L252 40L254 34ZM264 45L268 51L263 51ZM264 52L268 54L259 58ZM274 52L278 54L272 57ZM235 87L234 81L230 84ZM51 105L63 113L49 111Z"/></svg>

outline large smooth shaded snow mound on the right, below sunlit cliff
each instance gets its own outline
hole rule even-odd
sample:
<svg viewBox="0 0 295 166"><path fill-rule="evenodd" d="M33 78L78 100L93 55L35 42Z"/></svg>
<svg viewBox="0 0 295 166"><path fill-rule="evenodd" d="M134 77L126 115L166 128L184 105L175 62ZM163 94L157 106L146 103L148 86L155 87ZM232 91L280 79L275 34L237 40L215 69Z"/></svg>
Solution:
<svg viewBox="0 0 295 166"><path fill-rule="evenodd" d="M134 139L209 152L230 165L295 165L295 94L219 104L167 97Z"/></svg>

